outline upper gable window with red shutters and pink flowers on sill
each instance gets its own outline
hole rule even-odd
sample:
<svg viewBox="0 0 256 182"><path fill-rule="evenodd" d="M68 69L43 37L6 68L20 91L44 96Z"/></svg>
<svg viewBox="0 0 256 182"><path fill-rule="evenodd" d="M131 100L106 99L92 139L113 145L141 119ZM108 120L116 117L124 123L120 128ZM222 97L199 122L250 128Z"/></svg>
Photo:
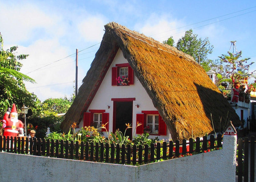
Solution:
<svg viewBox="0 0 256 182"><path fill-rule="evenodd" d="M129 63L112 67L112 86L133 85L133 70Z"/></svg>

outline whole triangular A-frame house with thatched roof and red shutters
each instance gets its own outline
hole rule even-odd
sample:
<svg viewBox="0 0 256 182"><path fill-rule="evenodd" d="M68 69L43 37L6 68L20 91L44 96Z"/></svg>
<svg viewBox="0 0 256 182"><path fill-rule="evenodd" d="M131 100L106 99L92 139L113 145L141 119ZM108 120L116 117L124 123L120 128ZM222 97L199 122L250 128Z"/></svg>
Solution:
<svg viewBox="0 0 256 182"><path fill-rule="evenodd" d="M229 120L240 124L191 56L112 22L105 25L101 46L61 128L69 131L73 122L80 127L108 122L107 129L115 132L132 123L132 136L139 122L143 125L135 134L147 127L153 137L181 140L209 134L213 127L222 131Z"/></svg>

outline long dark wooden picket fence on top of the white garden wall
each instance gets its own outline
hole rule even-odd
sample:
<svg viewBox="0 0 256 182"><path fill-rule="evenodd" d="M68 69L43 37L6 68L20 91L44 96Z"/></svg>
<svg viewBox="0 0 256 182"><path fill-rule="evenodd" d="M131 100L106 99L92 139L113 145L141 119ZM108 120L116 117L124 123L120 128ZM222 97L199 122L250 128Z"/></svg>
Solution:
<svg viewBox="0 0 256 182"><path fill-rule="evenodd" d="M207 140L199 137L189 142L183 139L163 142L162 145L109 145L108 143L64 141L53 139L32 139L27 137L2 137L0 136L0 152L30 154L37 156L47 156L55 158L76 159L84 161L117 163L117 164L145 164L158 161L160 159L177 158L184 155L192 155L210 150L217 150L222 147L222 136L218 134L217 138L213 135ZM178 149L178 150L176 150ZM135 157L134 157L135 156Z"/></svg>

